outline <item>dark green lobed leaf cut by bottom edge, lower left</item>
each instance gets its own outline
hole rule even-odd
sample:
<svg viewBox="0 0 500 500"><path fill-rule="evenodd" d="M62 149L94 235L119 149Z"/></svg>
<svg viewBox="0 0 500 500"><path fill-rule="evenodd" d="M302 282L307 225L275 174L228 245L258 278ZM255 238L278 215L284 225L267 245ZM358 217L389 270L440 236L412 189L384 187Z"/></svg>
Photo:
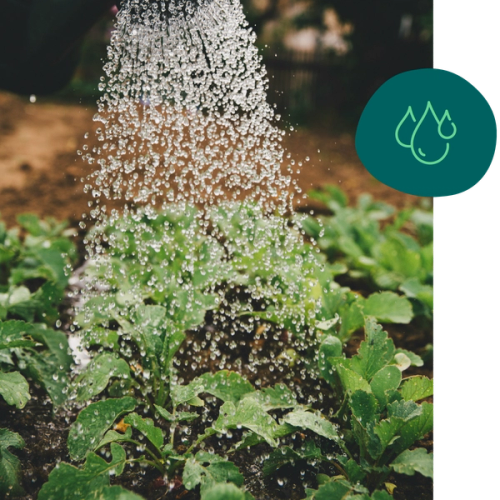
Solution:
<svg viewBox="0 0 500 500"><path fill-rule="evenodd" d="M81 500L91 498L107 498L104 492L109 491L110 473L121 474L126 462L125 450L116 443L111 443L111 461L108 463L95 453L89 453L83 469L60 463L54 467L40 493L38 500ZM117 495L116 491L111 491ZM122 497L117 496L115 498ZM125 496L123 500L135 500L137 497ZM140 498L140 497L138 497Z"/></svg>

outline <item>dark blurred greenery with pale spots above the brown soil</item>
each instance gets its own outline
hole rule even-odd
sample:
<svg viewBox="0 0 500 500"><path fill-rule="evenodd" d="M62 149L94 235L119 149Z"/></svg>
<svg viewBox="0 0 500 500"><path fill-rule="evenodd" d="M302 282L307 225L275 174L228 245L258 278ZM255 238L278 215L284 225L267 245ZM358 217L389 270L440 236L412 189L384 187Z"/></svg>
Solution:
<svg viewBox="0 0 500 500"><path fill-rule="evenodd" d="M371 95L403 71L433 66L430 0L242 0L269 76L269 101L294 125L355 129ZM85 40L57 97L95 102L112 16Z"/></svg>

